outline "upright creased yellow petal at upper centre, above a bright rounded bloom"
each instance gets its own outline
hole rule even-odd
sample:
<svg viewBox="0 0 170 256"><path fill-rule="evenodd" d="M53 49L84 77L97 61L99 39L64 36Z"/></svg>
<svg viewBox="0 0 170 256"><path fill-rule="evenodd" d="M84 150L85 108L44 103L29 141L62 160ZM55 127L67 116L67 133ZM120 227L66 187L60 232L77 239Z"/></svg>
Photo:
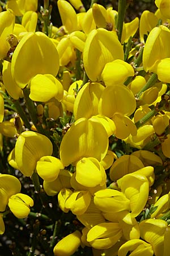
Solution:
<svg viewBox="0 0 170 256"><path fill-rule="evenodd" d="M117 35L104 28L92 30L87 36L83 51L83 63L90 80L100 79L105 64L124 59L124 51Z"/></svg>

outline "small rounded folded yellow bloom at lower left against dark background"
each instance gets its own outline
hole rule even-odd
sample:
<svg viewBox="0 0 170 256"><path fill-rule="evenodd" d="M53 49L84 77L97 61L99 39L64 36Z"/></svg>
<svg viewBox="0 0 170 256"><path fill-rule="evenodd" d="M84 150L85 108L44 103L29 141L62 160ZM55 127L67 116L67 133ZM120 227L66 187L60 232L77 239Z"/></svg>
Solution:
<svg viewBox="0 0 170 256"><path fill-rule="evenodd" d="M25 218L30 212L30 207L33 207L31 197L18 193L10 197L8 207L17 218Z"/></svg>

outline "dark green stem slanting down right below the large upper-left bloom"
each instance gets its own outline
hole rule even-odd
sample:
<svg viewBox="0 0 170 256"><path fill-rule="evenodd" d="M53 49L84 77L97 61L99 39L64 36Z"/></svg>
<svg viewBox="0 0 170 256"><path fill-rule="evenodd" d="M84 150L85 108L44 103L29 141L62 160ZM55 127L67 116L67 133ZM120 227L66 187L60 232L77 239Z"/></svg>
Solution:
<svg viewBox="0 0 170 256"><path fill-rule="evenodd" d="M33 124L35 125L37 131L41 134L46 135L45 130L42 128L42 126L39 123L39 120L37 119L37 112L35 108L34 102L29 98L29 89L25 88L23 89L24 99L27 104L27 109L29 112L29 115L32 119Z"/></svg>

